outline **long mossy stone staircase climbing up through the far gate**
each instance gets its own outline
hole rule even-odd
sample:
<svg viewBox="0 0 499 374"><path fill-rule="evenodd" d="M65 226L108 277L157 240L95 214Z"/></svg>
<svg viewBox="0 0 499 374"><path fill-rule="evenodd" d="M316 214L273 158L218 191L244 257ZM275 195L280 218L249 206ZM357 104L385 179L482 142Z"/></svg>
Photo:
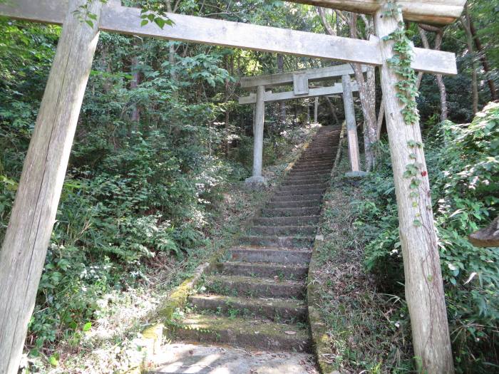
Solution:
<svg viewBox="0 0 499 374"><path fill-rule="evenodd" d="M338 138L339 128L318 130L240 246L168 326L173 341L310 351L306 280Z"/></svg>

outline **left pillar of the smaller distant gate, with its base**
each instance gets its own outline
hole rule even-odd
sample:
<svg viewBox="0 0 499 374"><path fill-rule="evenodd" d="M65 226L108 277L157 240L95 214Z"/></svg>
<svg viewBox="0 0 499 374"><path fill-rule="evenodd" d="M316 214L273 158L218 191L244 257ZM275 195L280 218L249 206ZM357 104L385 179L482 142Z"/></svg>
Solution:
<svg viewBox="0 0 499 374"><path fill-rule="evenodd" d="M257 87L257 102L254 108L253 122L253 175L247 178L247 183L264 183L265 178L262 177L263 163L263 130L265 122L265 86Z"/></svg>

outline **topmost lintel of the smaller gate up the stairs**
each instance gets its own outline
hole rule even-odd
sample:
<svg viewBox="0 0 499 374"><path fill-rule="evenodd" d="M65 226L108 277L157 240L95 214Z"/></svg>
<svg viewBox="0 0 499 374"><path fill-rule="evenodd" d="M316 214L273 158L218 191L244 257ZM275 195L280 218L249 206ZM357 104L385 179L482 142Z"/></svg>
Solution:
<svg viewBox="0 0 499 374"><path fill-rule="evenodd" d="M362 71L365 72L366 70L366 66L362 66ZM349 63L346 63L344 65L326 66L326 68L305 69L299 72L307 74L309 82L313 82L317 80L341 77L344 75L351 76L354 74L354 69L351 68ZM259 85L274 87L277 85L292 84L295 73L297 72L269 74L267 76L242 77L240 81L241 88L254 88Z"/></svg>

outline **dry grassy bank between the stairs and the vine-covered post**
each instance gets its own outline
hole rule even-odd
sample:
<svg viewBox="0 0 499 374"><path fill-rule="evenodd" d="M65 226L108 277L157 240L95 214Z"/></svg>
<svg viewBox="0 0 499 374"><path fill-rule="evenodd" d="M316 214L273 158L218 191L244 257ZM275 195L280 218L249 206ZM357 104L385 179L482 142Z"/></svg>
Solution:
<svg viewBox="0 0 499 374"><path fill-rule="evenodd" d="M322 359L341 373L410 373L410 326L398 321L405 319L406 305L378 293L364 270L363 236L355 229L353 204L362 196L355 180L342 177L347 168L344 159L324 197L324 242L317 247L313 282L330 346Z"/></svg>

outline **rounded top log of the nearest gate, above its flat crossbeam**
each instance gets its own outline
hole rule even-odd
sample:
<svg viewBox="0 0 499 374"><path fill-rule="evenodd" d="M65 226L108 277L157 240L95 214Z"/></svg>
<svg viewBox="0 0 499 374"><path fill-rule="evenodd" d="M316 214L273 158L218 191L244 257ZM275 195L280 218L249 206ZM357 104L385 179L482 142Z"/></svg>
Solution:
<svg viewBox="0 0 499 374"><path fill-rule="evenodd" d="M384 0L288 0L294 3L311 4L355 13L374 14ZM465 0L398 0L403 19L423 24L446 25L461 16Z"/></svg>

